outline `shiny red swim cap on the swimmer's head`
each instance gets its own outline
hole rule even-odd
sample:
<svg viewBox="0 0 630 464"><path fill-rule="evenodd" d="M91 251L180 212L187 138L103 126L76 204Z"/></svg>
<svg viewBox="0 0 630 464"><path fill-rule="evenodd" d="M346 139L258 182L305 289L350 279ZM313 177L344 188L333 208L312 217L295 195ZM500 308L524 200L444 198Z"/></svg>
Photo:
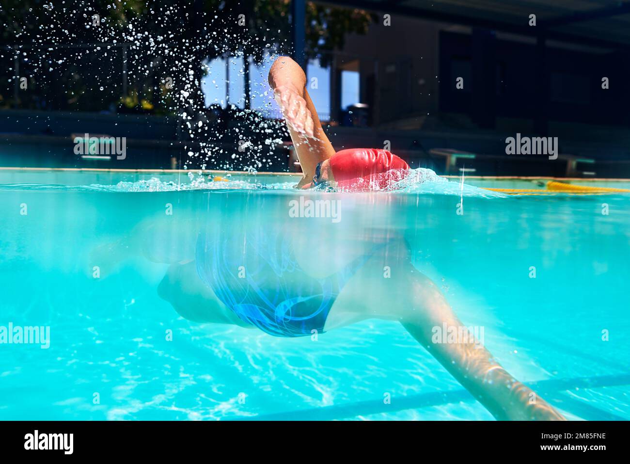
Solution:
<svg viewBox="0 0 630 464"><path fill-rule="evenodd" d="M337 185L354 191L388 190L404 179L409 165L387 150L351 148L329 158Z"/></svg>

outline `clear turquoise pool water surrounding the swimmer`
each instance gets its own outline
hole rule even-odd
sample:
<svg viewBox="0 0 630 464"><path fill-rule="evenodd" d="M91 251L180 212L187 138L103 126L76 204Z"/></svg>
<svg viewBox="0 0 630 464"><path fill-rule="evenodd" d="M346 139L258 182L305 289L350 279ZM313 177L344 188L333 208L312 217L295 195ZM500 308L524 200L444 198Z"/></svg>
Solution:
<svg viewBox="0 0 630 464"><path fill-rule="evenodd" d="M202 231L254 248L297 237L318 262L401 241L516 378L570 419L630 419L629 195L508 197L433 178L336 194L231 179L1 173L0 326L49 327L50 339L0 344L0 419L493 419L398 322L317 340L198 322L215 307L190 272ZM301 196L339 201L338 214L291 217ZM163 298L165 275L187 318ZM364 282L366 299L381 298L381 278Z"/></svg>

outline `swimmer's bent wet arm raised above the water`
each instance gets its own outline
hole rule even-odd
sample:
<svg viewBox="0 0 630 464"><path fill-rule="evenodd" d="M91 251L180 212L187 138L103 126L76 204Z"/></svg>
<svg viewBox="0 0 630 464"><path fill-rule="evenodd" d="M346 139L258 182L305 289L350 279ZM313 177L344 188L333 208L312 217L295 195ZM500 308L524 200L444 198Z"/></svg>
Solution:
<svg viewBox="0 0 630 464"><path fill-rule="evenodd" d="M311 182L318 163L333 156L335 149L321 127L315 105L306 90L306 74L299 64L290 57L279 57L269 70L269 84L302 166L304 178L298 184L302 187Z"/></svg>

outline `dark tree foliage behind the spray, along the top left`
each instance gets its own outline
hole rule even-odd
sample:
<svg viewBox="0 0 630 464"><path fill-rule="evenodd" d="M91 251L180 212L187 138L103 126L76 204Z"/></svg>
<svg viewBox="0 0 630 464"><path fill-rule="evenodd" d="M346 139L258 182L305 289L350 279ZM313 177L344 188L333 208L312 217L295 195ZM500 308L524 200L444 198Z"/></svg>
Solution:
<svg viewBox="0 0 630 464"><path fill-rule="evenodd" d="M93 25L94 15L98 26ZM367 32L370 21L362 10L307 3L307 57L327 62L348 33ZM142 98L156 103L145 108L172 110L159 82L163 76L190 79L192 70L197 90L188 91L188 98L198 106L204 61L238 55L260 63L268 52L290 54L292 27L290 0L3 0L0 79L6 83L13 78L11 66L19 59L23 72L37 76L40 90L62 94L40 95L31 106L102 109L135 92L139 104ZM76 48L81 44L84 49ZM130 44L125 46L127 76L121 76L122 44ZM98 68L92 69L98 76L84 75L90 67ZM47 72L57 77L43 78ZM247 81L248 67L245 73ZM127 87L121 84L123 77ZM57 79L65 79L62 87ZM86 97L103 83L102 98ZM0 94L8 95L10 84L3 86Z"/></svg>

